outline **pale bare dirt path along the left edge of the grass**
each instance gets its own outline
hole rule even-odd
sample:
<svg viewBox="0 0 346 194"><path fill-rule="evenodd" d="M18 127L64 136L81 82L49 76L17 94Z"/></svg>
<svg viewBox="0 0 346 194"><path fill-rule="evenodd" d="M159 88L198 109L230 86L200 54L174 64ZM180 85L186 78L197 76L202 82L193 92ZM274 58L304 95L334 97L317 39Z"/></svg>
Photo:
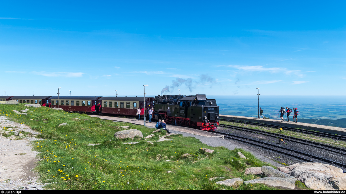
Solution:
<svg viewBox="0 0 346 194"><path fill-rule="evenodd" d="M39 134L30 129L29 126L15 123L0 116L0 188L3 190L12 189L42 189L43 186L38 181L38 173L35 168L38 158L37 152L32 151L30 141L38 140L35 137L25 137L19 140L12 140L19 136L4 137L4 127L11 127L19 132L25 130L33 135Z"/></svg>

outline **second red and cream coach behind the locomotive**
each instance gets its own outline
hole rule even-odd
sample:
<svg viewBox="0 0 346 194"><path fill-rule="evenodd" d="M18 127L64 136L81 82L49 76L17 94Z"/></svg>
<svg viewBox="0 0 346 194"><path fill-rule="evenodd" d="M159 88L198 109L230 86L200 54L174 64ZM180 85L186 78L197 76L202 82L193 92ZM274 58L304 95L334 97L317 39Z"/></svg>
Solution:
<svg viewBox="0 0 346 194"><path fill-rule="evenodd" d="M95 107L102 96L52 96L48 99L49 107L62 108L73 112L96 112Z"/></svg>

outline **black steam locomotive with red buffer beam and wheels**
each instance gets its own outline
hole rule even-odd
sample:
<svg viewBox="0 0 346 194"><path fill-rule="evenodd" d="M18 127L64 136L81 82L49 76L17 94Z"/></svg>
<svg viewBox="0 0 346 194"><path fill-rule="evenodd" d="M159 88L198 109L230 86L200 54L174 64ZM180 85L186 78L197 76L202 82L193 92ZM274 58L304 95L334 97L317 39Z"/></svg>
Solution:
<svg viewBox="0 0 346 194"><path fill-rule="evenodd" d="M204 94L195 96L155 96L155 119L202 130L215 130L219 126L219 107L215 99Z"/></svg>

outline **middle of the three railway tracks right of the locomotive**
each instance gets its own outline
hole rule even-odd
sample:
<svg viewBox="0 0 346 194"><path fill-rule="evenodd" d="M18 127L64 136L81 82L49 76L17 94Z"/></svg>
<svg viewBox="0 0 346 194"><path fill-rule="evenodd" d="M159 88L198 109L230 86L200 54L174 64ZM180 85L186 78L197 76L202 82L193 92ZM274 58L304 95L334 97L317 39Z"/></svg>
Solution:
<svg viewBox="0 0 346 194"><path fill-rule="evenodd" d="M253 132L253 133L267 135L267 136L271 136L271 137L277 137L277 138L280 138L280 139L289 140L291 142L295 142L295 143L299 143L299 144L304 144L304 145L309 145L309 146L313 146L313 147L317 147L317 148L321 148L321 149L326 149L326 150L331 151L331 152L336 152L338 154L346 155L346 149L339 148L339 147L334 147L334 146L331 146L331 145L321 144L321 143L317 143L317 142L312 142L312 141L309 141L309 140L306 140L306 139L300 139L300 138L296 138L296 137L290 137L290 136L286 136L286 135L280 135L280 134L276 134L276 133L266 132L266 131L262 131L262 130L258 130L258 129L250 129L250 128L245 128L245 127L232 126L232 125L219 124L219 126L220 127L231 128L231 129L244 130L246 132ZM304 142L307 142L307 143L304 143ZM308 143L310 143L310 144L308 144ZM319 146L317 146L317 145L319 145ZM320 146L324 146L324 147L320 147ZM332 148L332 149L328 149L326 147ZM333 149L336 149L336 150L339 150L339 151L343 151L343 152L338 152L338 151L335 151Z"/></svg>

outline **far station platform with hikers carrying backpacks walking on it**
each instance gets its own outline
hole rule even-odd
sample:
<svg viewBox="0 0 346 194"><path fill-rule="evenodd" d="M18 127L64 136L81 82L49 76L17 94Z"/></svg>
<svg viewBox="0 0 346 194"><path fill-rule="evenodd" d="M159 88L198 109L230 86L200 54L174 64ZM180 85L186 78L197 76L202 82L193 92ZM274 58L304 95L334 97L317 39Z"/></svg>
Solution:
<svg viewBox="0 0 346 194"><path fill-rule="evenodd" d="M255 122L255 123L264 123L264 124L271 124L271 125L278 125L282 127L293 127L293 128L302 128L302 129L308 129L308 130L314 130L318 132L324 132L324 133L331 133L331 134L338 134L338 135L346 135L346 128L341 127L332 127L332 126L326 126L326 125L316 125L316 124L310 124L310 123L293 123L293 118L290 119L290 122L287 122L287 120L281 122L280 120L276 119L263 119L263 118L256 118L256 117L243 117L243 116L233 116L233 115L219 115L220 118L223 119L232 119L232 120L242 120L247 122Z"/></svg>

